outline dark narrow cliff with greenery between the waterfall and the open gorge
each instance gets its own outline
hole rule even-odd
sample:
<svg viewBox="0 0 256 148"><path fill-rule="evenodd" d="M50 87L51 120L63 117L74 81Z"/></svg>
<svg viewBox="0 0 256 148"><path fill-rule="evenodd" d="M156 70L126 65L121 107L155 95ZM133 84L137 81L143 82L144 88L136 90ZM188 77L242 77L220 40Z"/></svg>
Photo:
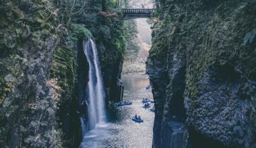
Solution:
<svg viewBox="0 0 256 148"><path fill-rule="evenodd" d="M99 2L90 1L90 3ZM94 8L99 9L98 7ZM98 49L102 77L106 88L106 102L120 101L119 89L121 89L122 84L119 80L121 79L125 48L123 20L119 17L100 15L98 11L88 11L83 21L92 32Z"/></svg>

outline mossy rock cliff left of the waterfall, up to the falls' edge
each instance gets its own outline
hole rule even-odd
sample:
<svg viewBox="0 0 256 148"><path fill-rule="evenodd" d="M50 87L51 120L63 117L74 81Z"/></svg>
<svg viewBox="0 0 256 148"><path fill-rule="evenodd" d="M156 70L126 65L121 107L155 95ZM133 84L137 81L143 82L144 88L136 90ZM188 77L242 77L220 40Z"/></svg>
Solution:
<svg viewBox="0 0 256 148"><path fill-rule="evenodd" d="M0 147L78 145L76 49L92 35L82 24L67 30L51 1L0 7Z"/></svg>

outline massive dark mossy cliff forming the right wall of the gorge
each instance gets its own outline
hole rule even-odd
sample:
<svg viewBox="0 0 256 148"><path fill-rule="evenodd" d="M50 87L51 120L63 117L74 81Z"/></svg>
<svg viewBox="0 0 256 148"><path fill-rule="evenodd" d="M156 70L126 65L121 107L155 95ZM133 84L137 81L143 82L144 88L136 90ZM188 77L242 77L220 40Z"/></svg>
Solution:
<svg viewBox="0 0 256 148"><path fill-rule="evenodd" d="M256 2L161 1L153 147L256 147Z"/></svg>

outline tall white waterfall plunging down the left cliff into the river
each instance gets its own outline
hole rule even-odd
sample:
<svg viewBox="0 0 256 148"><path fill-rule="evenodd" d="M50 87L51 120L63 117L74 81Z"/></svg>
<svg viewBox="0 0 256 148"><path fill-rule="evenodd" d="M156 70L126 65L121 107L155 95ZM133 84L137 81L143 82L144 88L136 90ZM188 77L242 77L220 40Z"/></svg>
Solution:
<svg viewBox="0 0 256 148"><path fill-rule="evenodd" d="M94 41L90 38L83 41L84 54L89 63L89 81L86 89L86 103L88 105L88 126L90 131L97 123L106 121L105 92L98 62L98 53Z"/></svg>

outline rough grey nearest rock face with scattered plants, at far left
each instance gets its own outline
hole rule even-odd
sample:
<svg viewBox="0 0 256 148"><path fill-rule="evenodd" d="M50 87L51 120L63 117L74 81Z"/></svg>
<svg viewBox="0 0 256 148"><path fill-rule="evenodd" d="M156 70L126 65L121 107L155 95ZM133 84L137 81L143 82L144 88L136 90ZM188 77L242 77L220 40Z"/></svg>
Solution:
<svg viewBox="0 0 256 148"><path fill-rule="evenodd" d="M59 38L40 26L45 15L32 1L1 3L0 147L61 147L55 91L46 85Z"/></svg>

